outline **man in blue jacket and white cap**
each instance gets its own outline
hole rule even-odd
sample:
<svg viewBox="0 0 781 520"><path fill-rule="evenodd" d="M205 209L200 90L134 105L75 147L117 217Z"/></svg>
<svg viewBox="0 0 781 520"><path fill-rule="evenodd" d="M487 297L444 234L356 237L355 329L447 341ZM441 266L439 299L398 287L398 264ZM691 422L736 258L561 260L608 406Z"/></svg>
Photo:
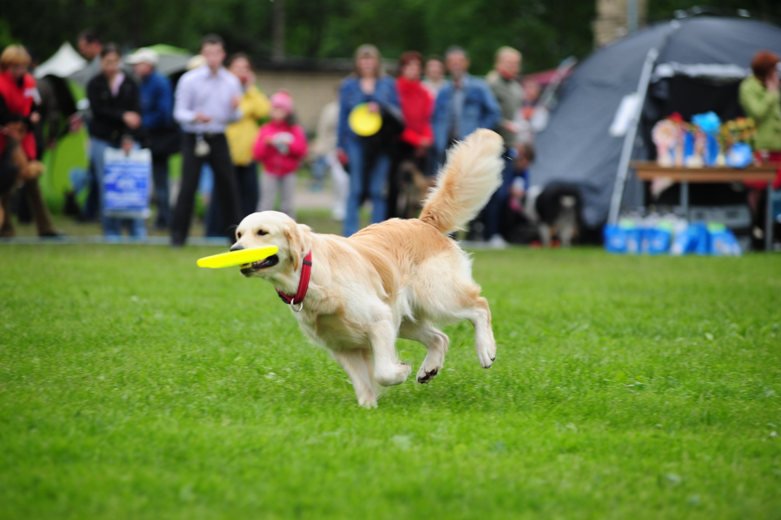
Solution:
<svg viewBox="0 0 781 520"><path fill-rule="evenodd" d="M125 60L141 79L141 122L149 134L152 151L152 182L155 185L157 219L155 228L167 229L170 223L168 159L176 151L179 139L173 125L173 91L168 77L157 69L159 56L151 48L140 48Z"/></svg>

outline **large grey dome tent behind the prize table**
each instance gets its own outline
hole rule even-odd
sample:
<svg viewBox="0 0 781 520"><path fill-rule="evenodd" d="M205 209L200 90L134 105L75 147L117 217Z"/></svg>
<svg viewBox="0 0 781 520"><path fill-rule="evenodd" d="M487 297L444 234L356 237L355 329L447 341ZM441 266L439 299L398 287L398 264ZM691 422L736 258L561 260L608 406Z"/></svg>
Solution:
<svg viewBox="0 0 781 520"><path fill-rule="evenodd" d="M583 224L597 228L643 205L629 160L655 159L651 127L672 112L741 115L737 86L760 49L781 55L781 28L749 18L693 16L657 23L601 48L558 91L537 134L532 185L576 184Z"/></svg>

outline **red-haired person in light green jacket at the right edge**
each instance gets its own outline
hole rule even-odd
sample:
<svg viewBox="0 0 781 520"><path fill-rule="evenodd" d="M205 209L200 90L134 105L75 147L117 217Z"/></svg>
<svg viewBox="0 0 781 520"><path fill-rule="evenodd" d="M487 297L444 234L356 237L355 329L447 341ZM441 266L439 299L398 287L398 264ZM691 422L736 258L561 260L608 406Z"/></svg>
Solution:
<svg viewBox="0 0 781 520"><path fill-rule="evenodd" d="M769 51L759 51L751 60L753 76L740 83L740 105L747 117L754 120L757 135L754 138L755 153L763 163L781 164L781 97L779 97L779 57ZM749 188L748 205L754 222L762 221L759 208L766 185L764 182L746 182ZM779 167L773 188L781 188ZM760 226L755 226L756 228ZM766 230L765 230L766 231ZM757 238L761 233L754 233Z"/></svg>

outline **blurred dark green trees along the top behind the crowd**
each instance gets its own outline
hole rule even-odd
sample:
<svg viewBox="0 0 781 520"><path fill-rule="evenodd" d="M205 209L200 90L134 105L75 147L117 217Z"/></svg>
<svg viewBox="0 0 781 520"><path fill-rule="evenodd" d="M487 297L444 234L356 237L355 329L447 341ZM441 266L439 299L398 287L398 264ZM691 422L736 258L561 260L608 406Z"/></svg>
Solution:
<svg viewBox="0 0 781 520"><path fill-rule="evenodd" d="M686 0L649 2L649 19L686 9ZM708 0L725 9L781 16L777 0ZM595 2L571 0L285 0L287 56L348 57L371 42L384 56L409 49L441 54L461 45L472 55L473 72L484 74L501 45L519 48L524 70L554 67L592 48ZM0 45L20 41L41 59L79 30L93 27L106 40L128 48L167 43L195 50L205 33L226 39L228 50L273 56L273 1L250 0L27 0L3 2Z"/></svg>

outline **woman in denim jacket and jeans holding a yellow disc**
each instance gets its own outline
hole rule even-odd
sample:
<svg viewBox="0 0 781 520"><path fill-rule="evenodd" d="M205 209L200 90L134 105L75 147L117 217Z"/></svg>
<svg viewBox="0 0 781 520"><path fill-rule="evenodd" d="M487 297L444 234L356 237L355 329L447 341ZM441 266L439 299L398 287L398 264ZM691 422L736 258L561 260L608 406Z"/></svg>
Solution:
<svg viewBox="0 0 781 520"><path fill-rule="evenodd" d="M361 45L355 51L355 74L342 81L339 89L339 129L337 147L346 158L350 170L350 195L344 218L344 236L358 231L358 210L364 189L365 173L372 200L372 223L386 215L386 188L391 168L391 153L384 139L360 137L348 124L350 112L360 103L369 103L369 110L383 116L383 126L390 120L401 122L398 92L393 78L384 74L380 51L374 45ZM346 157L345 157L346 156ZM365 169L369 168L368 172Z"/></svg>

